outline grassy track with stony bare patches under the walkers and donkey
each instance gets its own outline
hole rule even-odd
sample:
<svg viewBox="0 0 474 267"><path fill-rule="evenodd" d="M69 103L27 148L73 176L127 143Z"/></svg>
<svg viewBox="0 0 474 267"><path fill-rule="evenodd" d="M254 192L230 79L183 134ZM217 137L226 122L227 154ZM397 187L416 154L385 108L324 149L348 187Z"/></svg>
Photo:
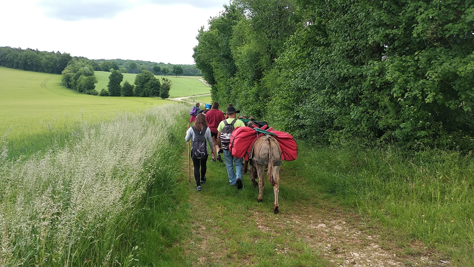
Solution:
<svg viewBox="0 0 474 267"><path fill-rule="evenodd" d="M280 214L275 215L269 182L264 202L257 203L258 189L248 174L244 188L237 191L228 184L225 165L209 161L207 181L197 192L192 169L188 182L186 157L182 182L189 184L191 211L182 222L188 229L179 244L182 257L191 266L451 266L420 241L324 198L298 177L297 164L285 163L280 172Z"/></svg>

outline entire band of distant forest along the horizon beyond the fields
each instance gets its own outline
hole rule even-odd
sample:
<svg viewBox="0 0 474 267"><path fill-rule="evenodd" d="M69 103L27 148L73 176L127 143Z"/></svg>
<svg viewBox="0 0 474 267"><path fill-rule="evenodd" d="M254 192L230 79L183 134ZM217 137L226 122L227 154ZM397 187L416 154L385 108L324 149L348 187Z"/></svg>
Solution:
<svg viewBox="0 0 474 267"><path fill-rule="evenodd" d="M52 74L61 74L71 59L86 57L71 57L68 53L39 51L38 49L21 49L11 47L0 47L0 66L16 68L22 70L45 72ZM154 74L161 75L184 75L184 76L202 76L200 70L195 65L164 64L142 60L123 60L123 59L91 59L94 71L110 71L110 69L119 70L122 73L141 73L142 70L148 70Z"/></svg>

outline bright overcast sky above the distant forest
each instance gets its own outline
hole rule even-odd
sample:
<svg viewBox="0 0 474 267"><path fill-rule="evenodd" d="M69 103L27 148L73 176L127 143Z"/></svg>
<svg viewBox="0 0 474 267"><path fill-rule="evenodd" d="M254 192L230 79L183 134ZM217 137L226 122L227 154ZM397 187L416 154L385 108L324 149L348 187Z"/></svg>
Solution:
<svg viewBox="0 0 474 267"><path fill-rule="evenodd" d="M194 64L198 29L228 0L2 1L0 47Z"/></svg>

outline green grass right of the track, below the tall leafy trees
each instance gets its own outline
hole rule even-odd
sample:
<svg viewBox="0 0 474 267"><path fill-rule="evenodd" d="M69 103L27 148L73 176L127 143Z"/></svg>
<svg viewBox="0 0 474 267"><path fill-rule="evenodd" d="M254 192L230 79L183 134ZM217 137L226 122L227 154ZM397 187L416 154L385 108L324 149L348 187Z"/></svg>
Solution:
<svg viewBox="0 0 474 267"><path fill-rule="evenodd" d="M289 162L340 202L474 266L474 157L299 143Z"/></svg>

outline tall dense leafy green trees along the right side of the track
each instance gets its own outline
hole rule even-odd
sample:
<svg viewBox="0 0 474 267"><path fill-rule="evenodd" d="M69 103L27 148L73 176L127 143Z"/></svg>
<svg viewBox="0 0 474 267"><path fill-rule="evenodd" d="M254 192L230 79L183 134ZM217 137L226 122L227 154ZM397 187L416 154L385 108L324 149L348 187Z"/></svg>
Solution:
<svg viewBox="0 0 474 267"><path fill-rule="evenodd" d="M213 100L296 136L470 150L473 5L233 0L193 57Z"/></svg>

